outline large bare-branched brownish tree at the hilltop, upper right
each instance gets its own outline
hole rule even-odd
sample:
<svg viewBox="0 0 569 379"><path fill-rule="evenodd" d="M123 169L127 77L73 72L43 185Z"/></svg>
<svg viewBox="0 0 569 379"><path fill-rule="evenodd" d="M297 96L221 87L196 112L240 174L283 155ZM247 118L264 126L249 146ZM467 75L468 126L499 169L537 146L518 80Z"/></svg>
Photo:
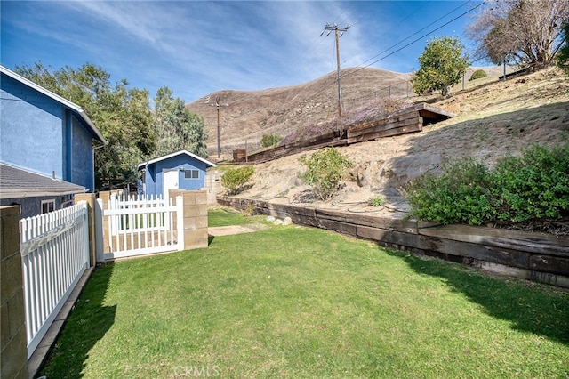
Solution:
<svg viewBox="0 0 569 379"><path fill-rule="evenodd" d="M469 36L477 42L477 58L549 65L563 42L561 25L568 17L567 0L494 1L469 26Z"/></svg>

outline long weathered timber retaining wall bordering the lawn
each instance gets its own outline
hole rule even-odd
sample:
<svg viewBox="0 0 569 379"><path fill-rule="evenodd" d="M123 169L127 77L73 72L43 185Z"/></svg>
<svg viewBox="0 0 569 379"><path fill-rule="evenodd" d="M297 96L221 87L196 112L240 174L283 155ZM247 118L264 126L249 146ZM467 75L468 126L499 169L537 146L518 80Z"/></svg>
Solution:
<svg viewBox="0 0 569 379"><path fill-rule="evenodd" d="M569 288L569 237L469 225L438 225L389 214L357 214L247 198L218 197L218 203L241 210L252 204L258 214L288 216L296 224L369 239L381 246Z"/></svg>

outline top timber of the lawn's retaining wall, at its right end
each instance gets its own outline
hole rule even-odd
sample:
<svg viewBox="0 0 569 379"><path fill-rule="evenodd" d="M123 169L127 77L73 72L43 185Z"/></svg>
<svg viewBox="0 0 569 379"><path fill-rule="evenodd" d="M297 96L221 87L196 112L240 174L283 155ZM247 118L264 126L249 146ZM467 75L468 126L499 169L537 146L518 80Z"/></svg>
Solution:
<svg viewBox="0 0 569 379"><path fill-rule="evenodd" d="M448 238L485 246L497 246L530 253L569 257L569 238L518 230L493 229L469 225L441 225L420 228L424 236Z"/></svg>

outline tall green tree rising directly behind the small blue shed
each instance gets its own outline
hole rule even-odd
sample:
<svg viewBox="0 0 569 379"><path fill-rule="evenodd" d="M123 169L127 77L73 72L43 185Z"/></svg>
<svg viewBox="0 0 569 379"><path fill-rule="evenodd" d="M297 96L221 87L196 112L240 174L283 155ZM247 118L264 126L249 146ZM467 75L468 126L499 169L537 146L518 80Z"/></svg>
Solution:
<svg viewBox="0 0 569 379"><path fill-rule="evenodd" d="M200 157L207 157L204 118L186 109L180 98L174 99L168 87L158 89L154 103L156 155L186 149Z"/></svg>

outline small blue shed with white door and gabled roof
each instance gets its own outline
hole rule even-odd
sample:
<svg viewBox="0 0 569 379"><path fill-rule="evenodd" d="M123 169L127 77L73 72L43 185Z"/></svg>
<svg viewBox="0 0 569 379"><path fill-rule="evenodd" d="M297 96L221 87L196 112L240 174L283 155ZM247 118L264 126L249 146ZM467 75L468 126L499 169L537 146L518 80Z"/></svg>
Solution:
<svg viewBox="0 0 569 379"><path fill-rule="evenodd" d="M204 189L208 167L215 167L215 164L180 150L142 162L138 168L142 171L143 193L167 197L169 189Z"/></svg>

